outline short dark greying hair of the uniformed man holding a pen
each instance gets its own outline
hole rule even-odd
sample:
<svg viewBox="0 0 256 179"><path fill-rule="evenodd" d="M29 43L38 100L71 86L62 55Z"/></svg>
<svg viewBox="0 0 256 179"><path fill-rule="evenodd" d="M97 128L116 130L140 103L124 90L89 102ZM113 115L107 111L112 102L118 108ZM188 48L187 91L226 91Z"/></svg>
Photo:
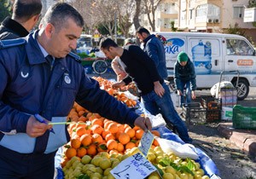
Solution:
<svg viewBox="0 0 256 179"><path fill-rule="evenodd" d="M57 30L60 30L67 25L69 18L73 19L78 26L84 26L84 19L77 9L68 3L55 3L47 10L42 24L46 26L47 23L51 23Z"/></svg>

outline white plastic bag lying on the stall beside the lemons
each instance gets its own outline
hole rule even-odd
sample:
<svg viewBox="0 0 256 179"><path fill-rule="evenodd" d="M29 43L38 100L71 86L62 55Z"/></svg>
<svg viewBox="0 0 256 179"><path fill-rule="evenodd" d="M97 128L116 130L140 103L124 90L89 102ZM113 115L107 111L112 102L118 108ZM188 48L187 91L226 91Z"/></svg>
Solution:
<svg viewBox="0 0 256 179"><path fill-rule="evenodd" d="M181 144L177 141L166 140L160 137L156 137L160 147L165 153L174 153L182 159L198 159L199 156L195 153L195 147L192 144Z"/></svg>

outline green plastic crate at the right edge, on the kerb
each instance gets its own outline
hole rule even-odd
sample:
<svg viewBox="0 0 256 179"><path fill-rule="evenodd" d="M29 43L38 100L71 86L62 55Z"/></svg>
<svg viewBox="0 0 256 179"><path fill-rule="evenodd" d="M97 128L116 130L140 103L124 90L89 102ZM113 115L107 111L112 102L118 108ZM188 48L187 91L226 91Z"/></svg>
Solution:
<svg viewBox="0 0 256 179"><path fill-rule="evenodd" d="M236 129L256 130L256 107L233 107L233 127Z"/></svg>

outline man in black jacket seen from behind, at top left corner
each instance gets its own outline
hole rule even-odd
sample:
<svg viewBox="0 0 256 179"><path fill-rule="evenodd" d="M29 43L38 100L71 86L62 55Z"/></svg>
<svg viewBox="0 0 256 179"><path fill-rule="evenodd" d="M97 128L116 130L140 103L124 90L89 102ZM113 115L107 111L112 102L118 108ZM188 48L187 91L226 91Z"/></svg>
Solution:
<svg viewBox="0 0 256 179"><path fill-rule="evenodd" d="M12 17L1 23L0 40L26 37L37 24L41 10L41 0L15 0Z"/></svg>

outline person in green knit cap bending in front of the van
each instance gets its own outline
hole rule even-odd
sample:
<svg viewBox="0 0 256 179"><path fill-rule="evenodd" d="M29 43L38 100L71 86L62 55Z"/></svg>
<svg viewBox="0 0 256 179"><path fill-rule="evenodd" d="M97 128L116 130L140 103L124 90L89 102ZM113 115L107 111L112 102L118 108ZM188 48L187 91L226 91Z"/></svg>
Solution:
<svg viewBox="0 0 256 179"><path fill-rule="evenodd" d="M177 55L177 62L174 65L174 83L177 89L177 95L180 95L180 106L183 103L190 103L195 99L195 67L189 56L185 52ZM186 102L184 101L183 90L186 87ZM191 99L192 98L192 99Z"/></svg>

